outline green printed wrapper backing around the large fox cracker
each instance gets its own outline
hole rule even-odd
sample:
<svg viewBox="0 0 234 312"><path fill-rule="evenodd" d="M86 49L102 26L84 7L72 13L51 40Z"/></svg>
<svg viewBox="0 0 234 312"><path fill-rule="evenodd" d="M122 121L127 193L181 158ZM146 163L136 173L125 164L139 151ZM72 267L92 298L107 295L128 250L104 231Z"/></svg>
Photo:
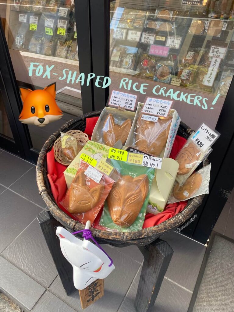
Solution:
<svg viewBox="0 0 234 312"><path fill-rule="evenodd" d="M101 226L107 227L111 230L116 230L119 232L134 232L139 231L143 227L145 212L147 208L147 204L149 201L149 193L151 189L151 185L154 178L154 169L144 166L138 166L134 164L129 164L124 161L113 160L111 159L110 164L119 171L122 176L128 175L132 178L139 177L142 174L146 174L149 180L149 192L144 200L144 203L140 209L138 216L136 217L135 221L129 227L121 227L115 224L110 216L110 212L108 210L108 203L107 200L105 201L103 212L100 218L99 224Z"/></svg>

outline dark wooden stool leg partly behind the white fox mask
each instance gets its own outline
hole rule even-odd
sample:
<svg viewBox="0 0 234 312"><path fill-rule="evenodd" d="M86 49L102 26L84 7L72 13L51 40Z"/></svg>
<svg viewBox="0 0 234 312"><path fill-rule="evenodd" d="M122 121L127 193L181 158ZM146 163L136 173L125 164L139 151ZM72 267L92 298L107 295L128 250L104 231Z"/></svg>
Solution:
<svg viewBox="0 0 234 312"><path fill-rule="evenodd" d="M61 278L62 285L66 294L69 296L76 290L76 288L73 283L73 268L63 256L59 238L55 233L56 227L61 226L61 224L51 215L49 211L41 212L37 216L37 220L39 221L46 244L50 250L56 269Z"/></svg>

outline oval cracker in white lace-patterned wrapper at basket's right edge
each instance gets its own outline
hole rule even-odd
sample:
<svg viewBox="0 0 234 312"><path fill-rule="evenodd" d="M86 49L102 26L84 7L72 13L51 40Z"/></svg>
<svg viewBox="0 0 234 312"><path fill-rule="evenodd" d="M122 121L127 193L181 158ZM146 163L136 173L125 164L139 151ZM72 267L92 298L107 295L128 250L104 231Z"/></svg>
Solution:
<svg viewBox="0 0 234 312"><path fill-rule="evenodd" d="M209 193L211 164L193 173L183 184L175 182L168 203L188 200Z"/></svg>

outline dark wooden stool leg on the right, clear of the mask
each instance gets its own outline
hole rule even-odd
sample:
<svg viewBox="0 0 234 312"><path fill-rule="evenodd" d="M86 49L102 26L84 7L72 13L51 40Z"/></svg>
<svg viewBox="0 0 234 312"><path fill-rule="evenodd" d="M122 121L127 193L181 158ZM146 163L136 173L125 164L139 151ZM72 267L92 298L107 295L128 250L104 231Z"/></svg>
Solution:
<svg viewBox="0 0 234 312"><path fill-rule="evenodd" d="M161 239L139 249L144 256L144 263L135 299L135 309L137 312L147 312L153 307L158 296L173 249Z"/></svg>

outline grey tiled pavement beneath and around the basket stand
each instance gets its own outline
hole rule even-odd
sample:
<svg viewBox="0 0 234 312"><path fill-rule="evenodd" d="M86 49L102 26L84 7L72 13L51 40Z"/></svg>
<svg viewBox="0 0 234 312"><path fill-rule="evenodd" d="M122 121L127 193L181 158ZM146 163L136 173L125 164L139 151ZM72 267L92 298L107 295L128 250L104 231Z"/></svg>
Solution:
<svg viewBox="0 0 234 312"><path fill-rule="evenodd" d="M38 225L36 216L45 208L35 166L0 150L0 291L24 311L82 311L78 291L65 294ZM186 312L205 246L176 232L162 238L174 254L153 311ZM104 249L115 270L105 279L104 297L85 311L135 311L143 256L136 246Z"/></svg>

